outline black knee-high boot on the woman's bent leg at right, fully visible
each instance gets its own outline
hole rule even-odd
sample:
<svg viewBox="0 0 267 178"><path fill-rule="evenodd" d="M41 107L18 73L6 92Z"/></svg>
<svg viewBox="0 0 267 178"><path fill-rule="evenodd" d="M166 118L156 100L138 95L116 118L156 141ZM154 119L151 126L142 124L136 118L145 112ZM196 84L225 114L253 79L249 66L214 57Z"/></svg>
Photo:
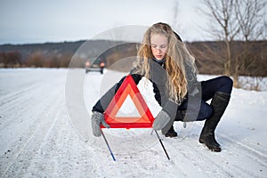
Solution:
<svg viewBox="0 0 267 178"><path fill-rule="evenodd" d="M230 101L230 94L217 92L214 94L214 98L211 101L211 107L213 114L211 117L206 119L205 125L201 131L199 142L204 143L209 150L220 152L221 146L215 140L214 130L218 125L221 117L223 116L224 110L226 109Z"/></svg>

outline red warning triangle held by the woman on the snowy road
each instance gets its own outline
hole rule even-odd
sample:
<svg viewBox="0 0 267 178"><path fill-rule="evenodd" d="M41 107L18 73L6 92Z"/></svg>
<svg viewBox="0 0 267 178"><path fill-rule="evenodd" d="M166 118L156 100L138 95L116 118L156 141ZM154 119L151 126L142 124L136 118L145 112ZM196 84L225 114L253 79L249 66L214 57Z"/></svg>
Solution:
<svg viewBox="0 0 267 178"><path fill-rule="evenodd" d="M130 95L134 105L141 117L117 117L117 112L125 102L127 96ZM104 117L110 128L150 128L152 127L154 117L149 107L142 98L142 94L135 85L132 76L125 77L124 82L117 90L108 108L104 112ZM104 126L101 125L103 128Z"/></svg>

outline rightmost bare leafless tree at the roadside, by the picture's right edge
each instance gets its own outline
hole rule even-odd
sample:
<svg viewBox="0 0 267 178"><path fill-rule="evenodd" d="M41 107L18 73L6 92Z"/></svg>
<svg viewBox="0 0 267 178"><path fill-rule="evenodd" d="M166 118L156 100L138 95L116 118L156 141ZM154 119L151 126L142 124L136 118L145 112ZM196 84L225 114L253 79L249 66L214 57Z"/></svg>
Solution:
<svg viewBox="0 0 267 178"><path fill-rule="evenodd" d="M253 56L253 45L255 41L263 38L266 29L265 16L266 1L259 0L236 0L235 13L239 21L239 40L244 41L242 52L235 59L234 79L239 80L239 73L249 73L252 66L257 65Z"/></svg>

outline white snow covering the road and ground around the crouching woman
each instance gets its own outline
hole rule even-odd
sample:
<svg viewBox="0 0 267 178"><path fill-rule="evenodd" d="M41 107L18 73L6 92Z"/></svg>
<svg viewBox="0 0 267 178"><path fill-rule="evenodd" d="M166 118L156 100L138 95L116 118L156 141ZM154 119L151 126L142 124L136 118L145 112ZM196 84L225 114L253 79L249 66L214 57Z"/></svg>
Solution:
<svg viewBox="0 0 267 178"><path fill-rule="evenodd" d="M198 143L203 121L175 122L177 138L158 132L170 160L150 128L103 129L113 161L103 138L93 137L90 110L105 81L123 75L0 69L0 177L267 177L266 91L233 89L216 129L220 153ZM138 87L157 115L150 84Z"/></svg>

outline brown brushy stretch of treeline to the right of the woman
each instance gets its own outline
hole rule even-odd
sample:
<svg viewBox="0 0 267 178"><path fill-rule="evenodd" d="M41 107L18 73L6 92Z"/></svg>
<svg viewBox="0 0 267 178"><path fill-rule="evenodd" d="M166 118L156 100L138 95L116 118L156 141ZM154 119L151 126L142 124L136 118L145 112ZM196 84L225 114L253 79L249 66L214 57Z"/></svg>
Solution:
<svg viewBox="0 0 267 178"><path fill-rule="evenodd" d="M232 77L267 77L267 41L234 41L230 45L231 61L224 42L194 42L188 47L196 58L199 73L218 75L228 71Z"/></svg>

